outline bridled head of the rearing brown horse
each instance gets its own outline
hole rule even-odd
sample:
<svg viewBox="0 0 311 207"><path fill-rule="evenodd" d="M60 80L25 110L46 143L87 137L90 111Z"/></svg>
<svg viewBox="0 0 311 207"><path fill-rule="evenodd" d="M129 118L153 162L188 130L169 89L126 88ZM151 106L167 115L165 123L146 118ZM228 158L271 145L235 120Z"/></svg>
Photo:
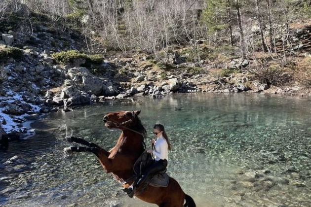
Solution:
<svg viewBox="0 0 311 207"><path fill-rule="evenodd" d="M108 113L104 116L103 121L109 129L122 127L130 127L137 123L140 110L136 111L117 111Z"/></svg>

